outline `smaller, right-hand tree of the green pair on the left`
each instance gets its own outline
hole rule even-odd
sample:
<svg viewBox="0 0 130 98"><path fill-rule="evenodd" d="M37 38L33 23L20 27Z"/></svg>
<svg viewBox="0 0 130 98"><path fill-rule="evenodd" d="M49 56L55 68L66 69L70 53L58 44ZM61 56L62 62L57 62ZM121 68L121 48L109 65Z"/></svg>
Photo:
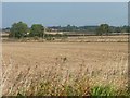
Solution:
<svg viewBox="0 0 130 98"><path fill-rule="evenodd" d="M44 27L41 24L34 24L30 28L30 36L35 37L43 37L44 35Z"/></svg>

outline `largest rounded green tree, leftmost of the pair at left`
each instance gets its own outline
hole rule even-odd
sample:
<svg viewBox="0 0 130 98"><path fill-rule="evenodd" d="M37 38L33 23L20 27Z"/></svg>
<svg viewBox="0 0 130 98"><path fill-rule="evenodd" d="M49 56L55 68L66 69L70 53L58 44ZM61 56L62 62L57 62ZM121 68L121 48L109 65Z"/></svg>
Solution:
<svg viewBox="0 0 130 98"><path fill-rule="evenodd" d="M27 35L28 26L26 23L18 22L14 23L11 27L10 37L22 38Z"/></svg>

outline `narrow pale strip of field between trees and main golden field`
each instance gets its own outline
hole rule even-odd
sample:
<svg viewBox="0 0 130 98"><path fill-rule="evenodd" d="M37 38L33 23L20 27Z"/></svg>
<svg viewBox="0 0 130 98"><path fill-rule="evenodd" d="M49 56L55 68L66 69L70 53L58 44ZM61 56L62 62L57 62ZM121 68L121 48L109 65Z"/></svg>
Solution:
<svg viewBox="0 0 130 98"><path fill-rule="evenodd" d="M52 37L48 39L42 38L22 38L22 39L12 39L8 37L2 37L2 41L8 42L128 42L128 35L116 35L116 36L68 36L68 37Z"/></svg>

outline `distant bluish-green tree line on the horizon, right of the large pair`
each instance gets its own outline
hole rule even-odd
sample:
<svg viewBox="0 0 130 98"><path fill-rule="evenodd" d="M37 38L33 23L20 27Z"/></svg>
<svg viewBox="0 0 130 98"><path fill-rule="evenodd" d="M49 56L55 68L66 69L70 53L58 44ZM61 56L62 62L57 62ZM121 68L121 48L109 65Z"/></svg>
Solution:
<svg viewBox="0 0 130 98"><path fill-rule="evenodd" d="M108 24L101 24L100 26L52 26L50 28L57 29L58 32L75 32L75 33L95 33L99 35L99 32L107 30L108 33L130 33L129 26L109 26ZM102 33L101 33L102 34Z"/></svg>

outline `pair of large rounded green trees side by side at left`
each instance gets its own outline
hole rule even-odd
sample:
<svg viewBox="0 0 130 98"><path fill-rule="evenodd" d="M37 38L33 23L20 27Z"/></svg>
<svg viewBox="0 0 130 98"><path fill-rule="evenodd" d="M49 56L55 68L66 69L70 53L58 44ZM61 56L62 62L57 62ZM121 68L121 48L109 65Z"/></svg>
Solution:
<svg viewBox="0 0 130 98"><path fill-rule="evenodd" d="M31 28L26 23L14 23L10 28L10 37L23 38L23 37L43 37L44 27L41 24L32 24Z"/></svg>

